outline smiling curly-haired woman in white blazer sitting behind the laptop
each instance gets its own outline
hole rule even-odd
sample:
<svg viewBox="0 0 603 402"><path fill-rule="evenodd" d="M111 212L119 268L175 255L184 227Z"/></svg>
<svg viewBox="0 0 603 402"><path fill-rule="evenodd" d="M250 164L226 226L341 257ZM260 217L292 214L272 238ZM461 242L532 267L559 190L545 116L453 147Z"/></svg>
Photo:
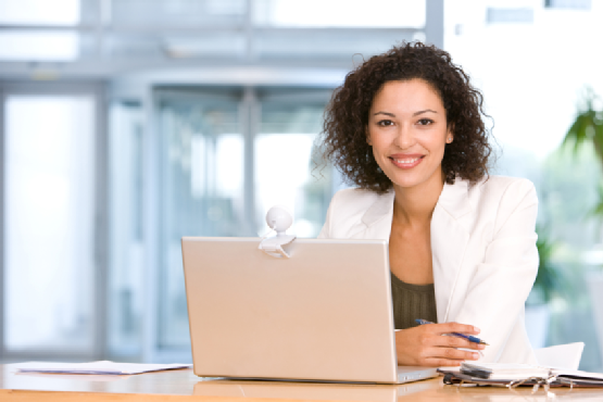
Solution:
<svg viewBox="0 0 603 402"><path fill-rule="evenodd" d="M538 200L529 180L488 175L481 105L447 52L415 42L364 62L327 108L326 154L357 188L334 197L319 237L389 241L399 364L536 363Z"/></svg>

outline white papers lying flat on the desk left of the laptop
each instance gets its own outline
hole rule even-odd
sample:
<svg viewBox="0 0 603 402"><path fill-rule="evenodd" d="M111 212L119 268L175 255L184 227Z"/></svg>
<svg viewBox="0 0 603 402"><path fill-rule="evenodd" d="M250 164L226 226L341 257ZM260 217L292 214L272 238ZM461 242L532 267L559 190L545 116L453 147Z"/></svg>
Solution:
<svg viewBox="0 0 603 402"><path fill-rule="evenodd" d="M27 362L12 365L20 373L129 375L164 369L188 368L191 364L140 364L110 361L89 363Z"/></svg>

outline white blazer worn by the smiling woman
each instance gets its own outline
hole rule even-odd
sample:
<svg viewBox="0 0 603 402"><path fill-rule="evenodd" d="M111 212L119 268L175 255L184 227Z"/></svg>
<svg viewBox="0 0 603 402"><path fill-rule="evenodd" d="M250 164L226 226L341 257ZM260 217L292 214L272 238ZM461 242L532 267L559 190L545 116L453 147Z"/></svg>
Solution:
<svg viewBox="0 0 603 402"><path fill-rule="evenodd" d="M389 241L393 190L338 191L319 238ZM524 305L538 272L538 199L531 181L490 176L445 184L431 218L438 323L480 328L480 362L537 364Z"/></svg>

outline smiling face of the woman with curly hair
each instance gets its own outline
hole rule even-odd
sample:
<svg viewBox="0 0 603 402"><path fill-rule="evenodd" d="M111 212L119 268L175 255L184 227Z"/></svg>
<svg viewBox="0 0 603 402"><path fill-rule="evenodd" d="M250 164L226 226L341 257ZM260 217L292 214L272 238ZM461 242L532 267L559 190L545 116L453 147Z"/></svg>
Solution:
<svg viewBox="0 0 603 402"><path fill-rule="evenodd" d="M388 81L373 99L367 141L394 188L441 185L444 148L452 139L442 100L426 81Z"/></svg>

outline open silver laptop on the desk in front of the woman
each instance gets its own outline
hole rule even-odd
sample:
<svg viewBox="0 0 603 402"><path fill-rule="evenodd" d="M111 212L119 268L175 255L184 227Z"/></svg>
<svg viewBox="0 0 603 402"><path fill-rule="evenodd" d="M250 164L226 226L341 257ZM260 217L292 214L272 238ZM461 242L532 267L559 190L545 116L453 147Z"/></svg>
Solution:
<svg viewBox="0 0 603 402"><path fill-rule="evenodd" d="M193 373L201 377L403 384L384 240L183 238Z"/></svg>

